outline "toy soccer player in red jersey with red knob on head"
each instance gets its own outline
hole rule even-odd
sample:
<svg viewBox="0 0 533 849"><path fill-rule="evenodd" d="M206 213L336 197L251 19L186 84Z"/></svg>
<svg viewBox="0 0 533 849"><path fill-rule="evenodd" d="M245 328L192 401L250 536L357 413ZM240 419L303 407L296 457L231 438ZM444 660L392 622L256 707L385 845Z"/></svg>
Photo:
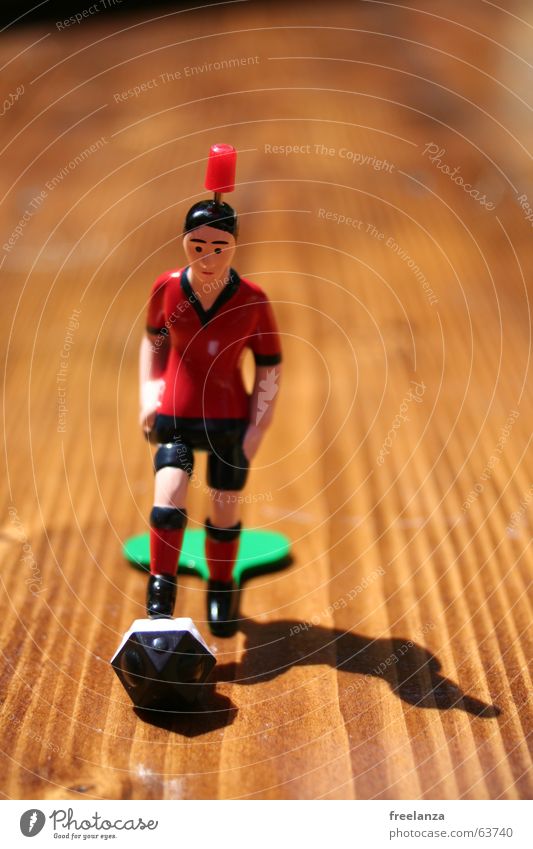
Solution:
<svg viewBox="0 0 533 849"><path fill-rule="evenodd" d="M147 613L152 619L173 615L194 451L207 451L212 495L205 520L207 618L218 636L232 635L238 625L232 573L241 521L235 496L271 422L281 362L266 295L231 268L237 215L221 194L234 189L236 156L229 145L211 148L205 186L214 199L194 204L186 215L188 264L155 281L140 353L141 427L159 443ZM246 347L256 366L251 395L240 369Z"/></svg>

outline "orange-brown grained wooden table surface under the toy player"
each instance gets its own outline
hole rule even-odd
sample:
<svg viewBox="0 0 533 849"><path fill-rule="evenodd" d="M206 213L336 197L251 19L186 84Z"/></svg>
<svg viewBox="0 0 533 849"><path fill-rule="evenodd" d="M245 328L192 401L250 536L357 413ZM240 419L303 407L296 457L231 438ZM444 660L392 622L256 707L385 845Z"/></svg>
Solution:
<svg viewBox="0 0 533 849"><path fill-rule="evenodd" d="M2 34L5 798L531 798L533 10L500 6ZM215 141L286 364L244 520L293 563L227 640L180 581L216 687L149 722L109 665L143 615L138 346Z"/></svg>

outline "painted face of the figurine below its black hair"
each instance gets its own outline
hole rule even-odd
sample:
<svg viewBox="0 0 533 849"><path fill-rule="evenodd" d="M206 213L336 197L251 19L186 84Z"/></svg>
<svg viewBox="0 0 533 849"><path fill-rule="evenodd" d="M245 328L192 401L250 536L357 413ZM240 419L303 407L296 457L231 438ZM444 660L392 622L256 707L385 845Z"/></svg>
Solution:
<svg viewBox="0 0 533 849"><path fill-rule="evenodd" d="M235 238L216 227L197 227L183 239L183 247L197 283L222 280L235 253Z"/></svg>

